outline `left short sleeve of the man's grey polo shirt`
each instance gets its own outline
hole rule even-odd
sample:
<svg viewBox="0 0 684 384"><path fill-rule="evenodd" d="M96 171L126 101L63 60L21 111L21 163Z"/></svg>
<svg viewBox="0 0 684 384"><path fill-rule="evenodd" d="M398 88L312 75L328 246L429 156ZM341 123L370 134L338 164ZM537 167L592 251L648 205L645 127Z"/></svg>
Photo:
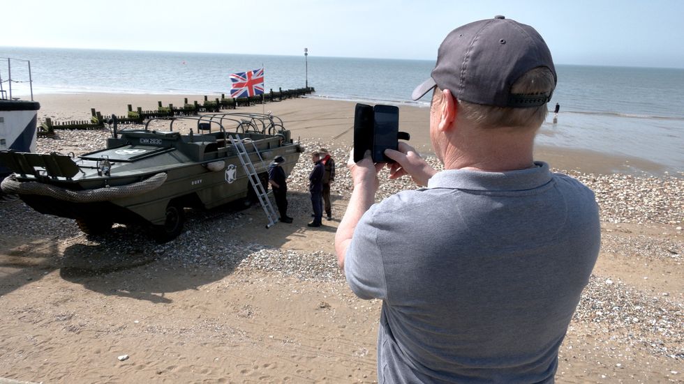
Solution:
<svg viewBox="0 0 684 384"><path fill-rule="evenodd" d="M387 299L385 265L378 247L378 225L373 221L377 204L371 206L357 224L347 254L344 272L347 284L359 298Z"/></svg>

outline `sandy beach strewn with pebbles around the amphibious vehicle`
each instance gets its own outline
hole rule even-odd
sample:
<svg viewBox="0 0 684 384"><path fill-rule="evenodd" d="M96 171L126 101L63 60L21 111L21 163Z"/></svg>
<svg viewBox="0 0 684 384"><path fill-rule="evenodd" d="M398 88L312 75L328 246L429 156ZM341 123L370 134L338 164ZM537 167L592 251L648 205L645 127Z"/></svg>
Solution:
<svg viewBox="0 0 684 384"><path fill-rule="evenodd" d="M208 95L209 99L216 95ZM203 100L188 95L189 100ZM95 108L181 105L183 95L38 95L39 118ZM302 155L288 180L292 224L264 229L259 207L188 210L158 245L142 228L85 236L73 220L0 204L0 377L43 383L373 383L381 302L359 300L336 269L334 233L350 192L354 102L302 98L242 107L283 119L339 164L334 220L311 219ZM401 107L401 130L430 153L429 109ZM83 153L106 132L59 132L39 150ZM79 137L80 139L73 139ZM91 141L88 143L88 141ZM602 250L560 348L558 383L684 381L684 183L616 174L634 159L537 148L597 193ZM639 164L657 170L657 164ZM410 181L386 183L382 194ZM382 195L381 194L381 195ZM382 196L380 196L382 197ZM128 357L125 360L123 356Z"/></svg>

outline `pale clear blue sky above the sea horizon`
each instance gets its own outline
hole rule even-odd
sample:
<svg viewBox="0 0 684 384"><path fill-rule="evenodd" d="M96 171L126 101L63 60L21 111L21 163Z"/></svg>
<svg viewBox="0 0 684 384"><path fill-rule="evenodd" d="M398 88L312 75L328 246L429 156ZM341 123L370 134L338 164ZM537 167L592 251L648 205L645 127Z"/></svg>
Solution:
<svg viewBox="0 0 684 384"><path fill-rule="evenodd" d="M0 0L0 47L435 60L456 26L530 24L561 64L684 68L684 1ZM1 49L0 49L1 52Z"/></svg>

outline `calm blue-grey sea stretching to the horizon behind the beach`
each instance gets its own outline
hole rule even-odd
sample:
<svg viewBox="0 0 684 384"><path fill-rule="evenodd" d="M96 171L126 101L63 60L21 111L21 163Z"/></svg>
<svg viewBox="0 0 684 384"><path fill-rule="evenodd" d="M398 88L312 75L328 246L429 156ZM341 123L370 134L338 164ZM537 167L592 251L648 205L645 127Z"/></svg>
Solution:
<svg viewBox="0 0 684 384"><path fill-rule="evenodd" d="M230 92L229 75L265 68L265 89L315 88L311 97L394 105L413 102L412 90L434 61L304 56L141 52L0 47L0 57L31 61L40 93ZM7 91L5 59L0 79ZM558 64L553 113L537 143L626 155L684 171L684 69L566 66ZM13 94L29 93L27 66L12 63Z"/></svg>

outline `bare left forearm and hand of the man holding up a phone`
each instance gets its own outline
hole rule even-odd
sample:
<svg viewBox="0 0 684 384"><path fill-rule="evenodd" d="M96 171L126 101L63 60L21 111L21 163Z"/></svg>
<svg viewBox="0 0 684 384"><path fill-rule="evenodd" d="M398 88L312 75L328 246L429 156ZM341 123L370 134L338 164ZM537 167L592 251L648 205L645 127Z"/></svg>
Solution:
<svg viewBox="0 0 684 384"><path fill-rule="evenodd" d="M366 210L375 203L376 191L380 184L378 181L378 171L385 166L384 163L373 164L371 151L366 151L364 159L357 163L353 159L354 155L352 152L350 153L347 167L349 167L349 171L352 174L354 189L349 199L347 211L344 213L335 233L337 265L341 269L344 269L344 257L347 253L347 248L352 242L354 229L356 229L359 220L366 213Z"/></svg>

